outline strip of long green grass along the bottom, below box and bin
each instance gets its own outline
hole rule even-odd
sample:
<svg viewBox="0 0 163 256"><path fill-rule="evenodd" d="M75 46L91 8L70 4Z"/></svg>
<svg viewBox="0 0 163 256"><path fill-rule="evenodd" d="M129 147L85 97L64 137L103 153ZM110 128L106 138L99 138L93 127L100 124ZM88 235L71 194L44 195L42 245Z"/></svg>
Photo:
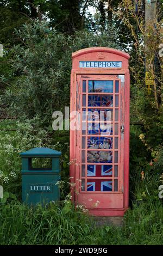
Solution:
<svg viewBox="0 0 163 256"><path fill-rule="evenodd" d="M162 245L162 203L133 205L123 227L96 227L73 206L28 208L18 201L0 206L1 245Z"/></svg>

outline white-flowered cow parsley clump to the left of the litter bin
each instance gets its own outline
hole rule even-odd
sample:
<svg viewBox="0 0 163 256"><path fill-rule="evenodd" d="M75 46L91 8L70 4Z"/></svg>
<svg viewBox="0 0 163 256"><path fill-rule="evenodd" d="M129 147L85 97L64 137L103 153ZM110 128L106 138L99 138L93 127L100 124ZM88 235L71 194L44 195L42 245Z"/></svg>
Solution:
<svg viewBox="0 0 163 256"><path fill-rule="evenodd" d="M40 129L35 120L3 121L0 123L0 182L5 191L20 197L20 153L34 147L47 147L47 131ZM13 130L13 131L12 131Z"/></svg>

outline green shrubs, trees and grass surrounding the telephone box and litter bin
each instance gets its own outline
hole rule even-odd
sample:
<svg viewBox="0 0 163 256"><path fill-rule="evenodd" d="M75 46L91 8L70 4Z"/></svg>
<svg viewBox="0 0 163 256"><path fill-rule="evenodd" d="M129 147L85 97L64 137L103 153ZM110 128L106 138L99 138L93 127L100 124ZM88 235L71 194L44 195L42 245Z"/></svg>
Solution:
<svg viewBox="0 0 163 256"><path fill-rule="evenodd" d="M117 8L120 1L114 2ZM127 19L130 22L127 27L122 23L123 17L118 16L118 12L117 16L110 16L111 20L106 21L106 13L102 17L102 8L95 19L87 18L87 29L94 31L88 33L76 31L76 28L80 29L84 24L79 13L83 1L74 0L73 8L69 1L62 0L32 0L24 10L26 4L26 1L17 0L4 0L0 4L0 35L1 42L5 42L4 57L0 57L0 72L3 75L0 84L0 110L1 114L16 115L20 119L0 123L0 182L4 187L4 198L0 201L1 245L162 243L163 212L162 202L158 198L158 187L163 182L162 108L156 111L154 97L147 96L143 87L144 66L140 62L144 58L143 40L138 28L136 33L138 25L137 20L134 20L135 16L130 17L129 10ZM29 19L39 16L40 11L45 13L46 10L49 10L49 23ZM125 8L121 10L124 13ZM109 15L111 13L108 12ZM5 20L4 16L8 19ZM24 21L27 22L20 28ZM108 25L111 21L115 26ZM129 27L133 28L132 32ZM14 28L17 30L13 34ZM61 33L65 31L66 33ZM117 44L120 41L121 46ZM16 45L9 50L14 42ZM68 179L69 133L52 130L52 113L56 110L63 112L64 107L70 105L71 53L93 46L130 46L132 210L127 211L123 227L95 227L90 222L91 218L83 214L84 206L78 205L74 209L70 195L67 195L71 185ZM62 152L61 203L51 203L47 208L40 205L28 208L17 200L21 198L19 154L34 147L50 147Z"/></svg>

